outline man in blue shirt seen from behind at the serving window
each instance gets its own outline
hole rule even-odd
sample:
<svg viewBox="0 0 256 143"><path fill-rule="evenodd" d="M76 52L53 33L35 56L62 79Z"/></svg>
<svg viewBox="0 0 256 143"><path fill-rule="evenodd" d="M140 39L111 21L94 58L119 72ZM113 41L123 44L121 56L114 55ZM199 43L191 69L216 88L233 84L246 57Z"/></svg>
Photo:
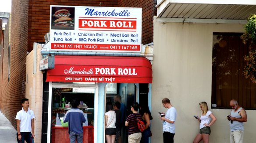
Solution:
<svg viewBox="0 0 256 143"><path fill-rule="evenodd" d="M68 112L64 116L63 123L68 122L68 133L70 143L83 143L83 123L85 123L84 112L78 109L80 102L78 99L72 99L71 105L72 109L68 110Z"/></svg>

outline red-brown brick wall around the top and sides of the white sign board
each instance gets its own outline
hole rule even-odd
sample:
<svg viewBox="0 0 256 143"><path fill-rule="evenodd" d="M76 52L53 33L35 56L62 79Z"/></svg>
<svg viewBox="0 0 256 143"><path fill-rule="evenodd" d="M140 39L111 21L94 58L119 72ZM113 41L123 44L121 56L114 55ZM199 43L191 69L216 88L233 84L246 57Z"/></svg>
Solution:
<svg viewBox="0 0 256 143"><path fill-rule="evenodd" d="M33 42L44 42L44 35L50 31L50 5L142 7L142 44L153 42L156 0L29 0L28 51L33 49Z"/></svg>

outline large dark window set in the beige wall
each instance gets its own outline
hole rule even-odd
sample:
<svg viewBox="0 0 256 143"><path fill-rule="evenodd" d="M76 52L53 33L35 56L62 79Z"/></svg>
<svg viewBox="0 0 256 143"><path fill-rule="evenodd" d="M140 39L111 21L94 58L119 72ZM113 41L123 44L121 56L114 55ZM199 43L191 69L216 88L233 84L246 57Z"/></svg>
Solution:
<svg viewBox="0 0 256 143"><path fill-rule="evenodd" d="M212 108L230 109L236 99L245 109L256 109L256 84L243 71L249 48L240 33L213 33Z"/></svg>

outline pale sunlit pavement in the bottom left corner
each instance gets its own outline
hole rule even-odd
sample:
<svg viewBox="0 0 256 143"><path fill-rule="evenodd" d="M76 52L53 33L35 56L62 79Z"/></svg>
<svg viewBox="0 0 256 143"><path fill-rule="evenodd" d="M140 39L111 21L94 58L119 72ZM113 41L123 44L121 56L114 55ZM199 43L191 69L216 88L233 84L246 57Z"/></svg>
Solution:
<svg viewBox="0 0 256 143"><path fill-rule="evenodd" d="M17 143L16 129L0 111L0 143Z"/></svg>

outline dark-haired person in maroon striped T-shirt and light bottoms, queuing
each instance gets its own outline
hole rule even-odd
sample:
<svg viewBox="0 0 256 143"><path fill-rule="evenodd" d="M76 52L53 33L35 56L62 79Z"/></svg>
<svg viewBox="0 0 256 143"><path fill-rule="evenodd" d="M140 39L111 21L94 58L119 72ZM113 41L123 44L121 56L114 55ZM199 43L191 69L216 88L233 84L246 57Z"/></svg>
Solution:
<svg viewBox="0 0 256 143"><path fill-rule="evenodd" d="M137 126L137 120L142 119L141 115L138 113L139 103L136 102L131 106L132 114L130 114L125 121L125 126L128 126L128 143L139 143L141 139L141 132Z"/></svg>

